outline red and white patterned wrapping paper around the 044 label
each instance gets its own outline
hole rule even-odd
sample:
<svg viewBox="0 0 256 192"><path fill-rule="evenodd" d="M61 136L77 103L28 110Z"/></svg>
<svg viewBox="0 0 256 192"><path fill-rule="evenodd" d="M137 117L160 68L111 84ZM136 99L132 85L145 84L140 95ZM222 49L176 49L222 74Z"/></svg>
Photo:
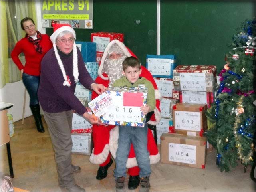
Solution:
<svg viewBox="0 0 256 192"><path fill-rule="evenodd" d="M180 73L205 73L205 90L188 90L181 87ZM173 69L173 85L175 91L206 91L214 92L216 86L215 65L178 65Z"/></svg>

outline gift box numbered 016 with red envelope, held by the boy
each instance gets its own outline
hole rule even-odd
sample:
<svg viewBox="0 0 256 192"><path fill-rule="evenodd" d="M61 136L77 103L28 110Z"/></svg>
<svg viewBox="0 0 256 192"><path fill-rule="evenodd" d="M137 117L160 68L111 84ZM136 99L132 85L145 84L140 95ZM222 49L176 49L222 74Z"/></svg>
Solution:
<svg viewBox="0 0 256 192"><path fill-rule="evenodd" d="M140 107L146 104L147 88L109 87L109 92L115 102L102 116L102 123L144 127L146 118Z"/></svg>

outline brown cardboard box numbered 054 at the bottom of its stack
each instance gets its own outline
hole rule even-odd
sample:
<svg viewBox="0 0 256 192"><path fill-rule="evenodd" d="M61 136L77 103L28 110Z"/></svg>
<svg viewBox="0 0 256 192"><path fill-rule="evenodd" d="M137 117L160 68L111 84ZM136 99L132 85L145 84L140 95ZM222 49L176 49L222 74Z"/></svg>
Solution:
<svg viewBox="0 0 256 192"><path fill-rule="evenodd" d="M206 137L163 133L161 139L161 162L205 168Z"/></svg>

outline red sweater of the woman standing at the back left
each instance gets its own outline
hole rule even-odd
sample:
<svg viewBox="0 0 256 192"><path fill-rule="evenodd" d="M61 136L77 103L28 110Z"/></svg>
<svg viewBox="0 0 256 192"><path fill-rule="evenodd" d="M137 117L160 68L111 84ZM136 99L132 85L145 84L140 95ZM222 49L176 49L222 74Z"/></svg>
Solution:
<svg viewBox="0 0 256 192"><path fill-rule="evenodd" d="M42 46L42 54L36 52L36 49L33 43L30 43L26 38L22 38L17 42L14 49L12 50L11 57L13 62L23 72L29 75L39 76L40 75L40 63L47 51L52 48L52 42L47 34L42 34L42 40L40 42ZM20 62L19 55L20 53L25 55L25 66Z"/></svg>

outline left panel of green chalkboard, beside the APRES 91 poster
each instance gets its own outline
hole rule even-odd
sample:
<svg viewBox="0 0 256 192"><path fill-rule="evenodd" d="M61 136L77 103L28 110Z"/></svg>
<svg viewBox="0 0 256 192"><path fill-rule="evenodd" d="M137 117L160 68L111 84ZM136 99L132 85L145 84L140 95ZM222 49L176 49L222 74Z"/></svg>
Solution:
<svg viewBox="0 0 256 192"><path fill-rule="evenodd" d="M146 54L157 50L156 18L156 1L93 1L94 29L75 29L77 41L91 42L93 32L123 33L124 44L145 66ZM52 32L46 28L48 35Z"/></svg>

